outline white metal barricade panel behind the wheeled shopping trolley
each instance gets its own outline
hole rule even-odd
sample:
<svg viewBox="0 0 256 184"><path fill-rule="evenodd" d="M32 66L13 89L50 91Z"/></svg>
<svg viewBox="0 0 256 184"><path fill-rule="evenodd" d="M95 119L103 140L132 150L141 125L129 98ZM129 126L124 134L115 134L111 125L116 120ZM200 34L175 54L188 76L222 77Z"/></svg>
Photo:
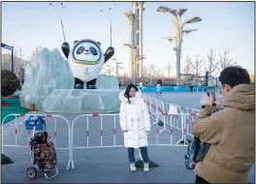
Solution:
<svg viewBox="0 0 256 184"><path fill-rule="evenodd" d="M7 124L7 117L16 116L14 121ZM61 115L52 114L9 114L2 121L2 153L4 147L27 147L30 148L29 141L32 137L33 130L26 130L25 122L35 120L38 116L44 116L46 122L46 131L54 143L55 149L64 149L68 151L69 161L71 163L71 128L69 121ZM35 118L35 119L34 119ZM36 131L37 132L37 131Z"/></svg>

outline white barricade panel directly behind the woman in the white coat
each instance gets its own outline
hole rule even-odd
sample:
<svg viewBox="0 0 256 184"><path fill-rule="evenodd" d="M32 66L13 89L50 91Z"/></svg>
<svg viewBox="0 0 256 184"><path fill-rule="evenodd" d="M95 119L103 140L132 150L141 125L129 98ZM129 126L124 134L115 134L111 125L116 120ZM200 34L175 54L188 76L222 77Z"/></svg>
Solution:
<svg viewBox="0 0 256 184"><path fill-rule="evenodd" d="M185 146L184 132L176 129L172 120L173 114L158 113L153 114L158 120L159 117L165 117L168 123L166 126L166 134L161 134L162 128L158 124L151 126L148 136L149 145L169 145L169 146ZM186 114L176 114L180 122ZM120 129L119 114L81 114L72 122L72 163L75 168L75 149L100 148L100 147L122 147L124 146L123 132Z"/></svg>

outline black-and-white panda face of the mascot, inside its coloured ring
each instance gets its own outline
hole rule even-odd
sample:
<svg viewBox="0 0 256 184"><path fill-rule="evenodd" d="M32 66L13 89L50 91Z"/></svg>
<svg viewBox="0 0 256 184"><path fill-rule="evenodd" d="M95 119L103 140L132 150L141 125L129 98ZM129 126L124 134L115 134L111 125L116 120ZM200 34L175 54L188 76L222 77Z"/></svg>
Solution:
<svg viewBox="0 0 256 184"><path fill-rule="evenodd" d="M101 48L93 41L80 41L76 43L73 49L73 57L75 61L80 64L98 64L101 56Z"/></svg>

